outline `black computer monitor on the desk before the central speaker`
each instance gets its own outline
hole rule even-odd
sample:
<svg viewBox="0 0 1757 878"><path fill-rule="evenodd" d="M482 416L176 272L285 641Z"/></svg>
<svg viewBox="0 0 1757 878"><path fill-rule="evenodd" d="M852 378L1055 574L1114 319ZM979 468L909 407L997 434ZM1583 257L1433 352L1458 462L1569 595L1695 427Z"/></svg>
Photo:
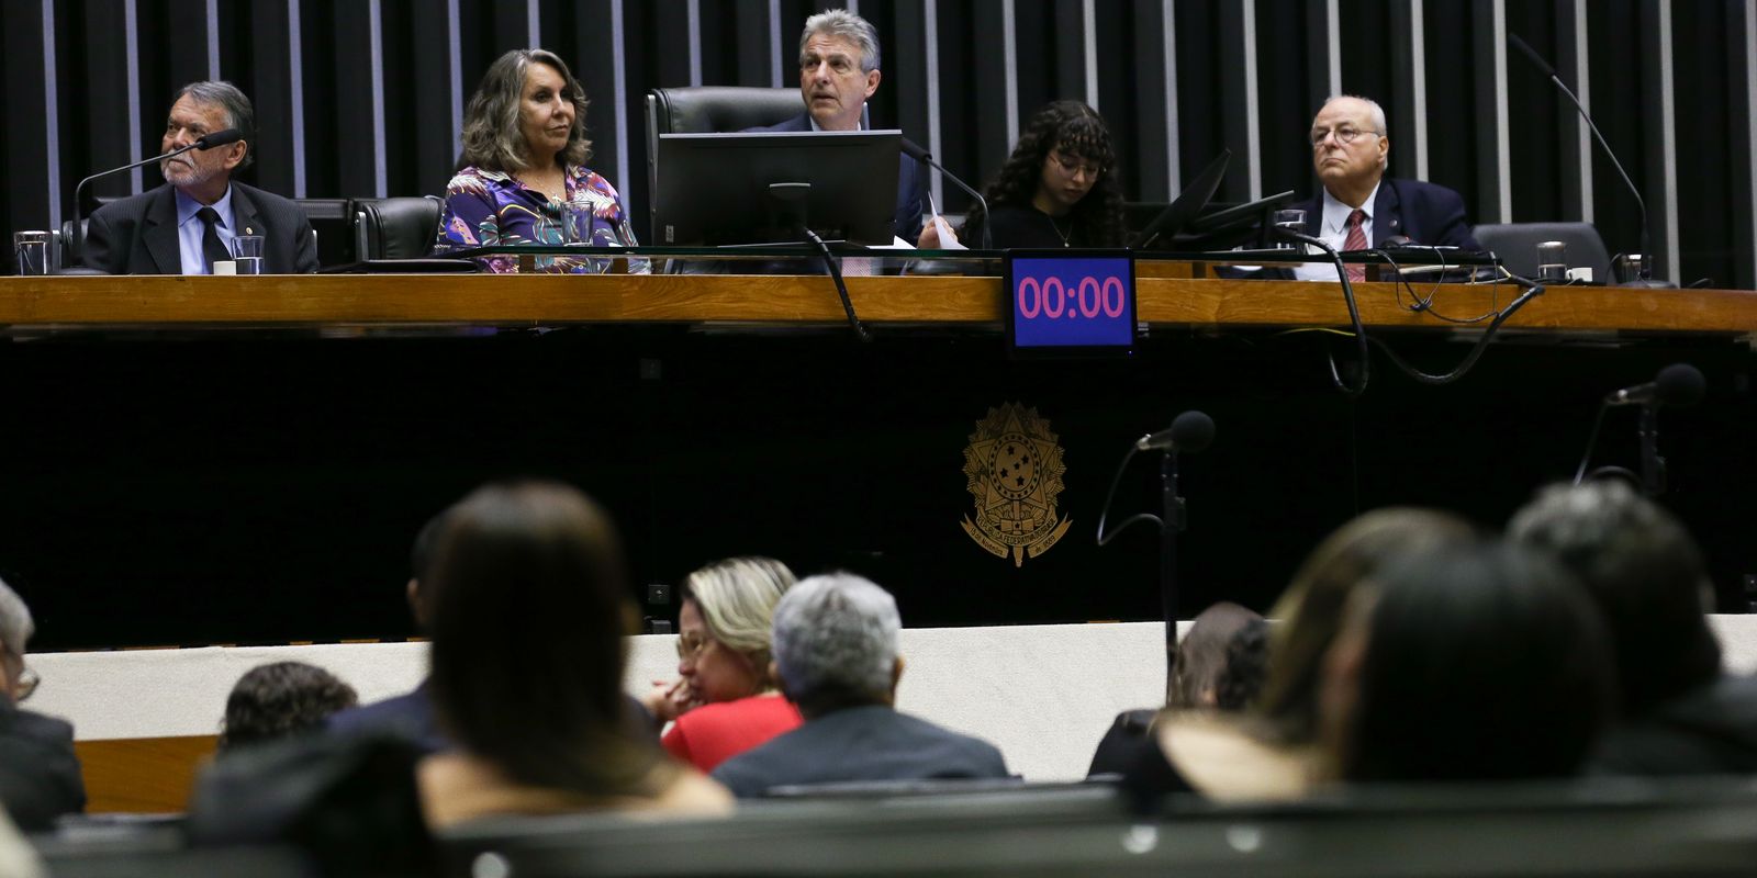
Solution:
<svg viewBox="0 0 1757 878"><path fill-rule="evenodd" d="M889 244L903 132L659 135L654 244ZM773 188L778 186L778 188Z"/></svg>

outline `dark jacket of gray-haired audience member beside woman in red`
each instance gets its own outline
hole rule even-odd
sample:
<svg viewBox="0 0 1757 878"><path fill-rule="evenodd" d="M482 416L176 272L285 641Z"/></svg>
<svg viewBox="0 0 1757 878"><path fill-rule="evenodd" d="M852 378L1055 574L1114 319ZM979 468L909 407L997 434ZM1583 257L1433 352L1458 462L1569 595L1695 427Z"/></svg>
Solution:
<svg viewBox="0 0 1757 878"><path fill-rule="evenodd" d="M713 780L741 799L784 785L1007 776L994 745L882 704L806 720L713 769Z"/></svg>

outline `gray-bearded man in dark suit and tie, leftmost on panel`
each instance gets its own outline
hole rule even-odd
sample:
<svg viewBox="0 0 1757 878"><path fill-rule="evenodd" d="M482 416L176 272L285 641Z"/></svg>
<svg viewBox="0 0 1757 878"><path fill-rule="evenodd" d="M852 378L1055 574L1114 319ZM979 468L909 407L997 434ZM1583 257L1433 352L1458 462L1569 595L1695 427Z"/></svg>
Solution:
<svg viewBox="0 0 1757 878"><path fill-rule="evenodd" d="M104 274L213 274L241 235L262 237L264 274L318 270L306 211L232 176L255 162L257 112L232 83L190 83L172 95L160 151L235 130L237 139L158 163L165 184L105 204L86 223L81 258Z"/></svg>

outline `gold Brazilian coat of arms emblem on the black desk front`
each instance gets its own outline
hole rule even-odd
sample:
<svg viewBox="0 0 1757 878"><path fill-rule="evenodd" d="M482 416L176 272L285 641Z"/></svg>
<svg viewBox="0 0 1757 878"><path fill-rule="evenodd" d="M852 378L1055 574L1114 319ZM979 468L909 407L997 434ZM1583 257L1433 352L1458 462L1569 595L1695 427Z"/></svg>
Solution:
<svg viewBox="0 0 1757 878"><path fill-rule="evenodd" d="M961 525L989 553L1012 555L1014 567L1038 557L1068 532L1056 515L1061 495L1061 444L1049 421L1017 402L989 409L965 448L965 476L977 500Z"/></svg>

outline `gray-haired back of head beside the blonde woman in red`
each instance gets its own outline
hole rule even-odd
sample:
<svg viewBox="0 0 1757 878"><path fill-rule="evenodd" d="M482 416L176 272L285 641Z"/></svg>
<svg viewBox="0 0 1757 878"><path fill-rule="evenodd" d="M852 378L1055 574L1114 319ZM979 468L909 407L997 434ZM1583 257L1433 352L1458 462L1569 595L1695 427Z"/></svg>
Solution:
<svg viewBox="0 0 1757 878"><path fill-rule="evenodd" d="M782 690L808 716L889 702L901 627L896 599L870 579L849 572L801 579L775 608Z"/></svg>

